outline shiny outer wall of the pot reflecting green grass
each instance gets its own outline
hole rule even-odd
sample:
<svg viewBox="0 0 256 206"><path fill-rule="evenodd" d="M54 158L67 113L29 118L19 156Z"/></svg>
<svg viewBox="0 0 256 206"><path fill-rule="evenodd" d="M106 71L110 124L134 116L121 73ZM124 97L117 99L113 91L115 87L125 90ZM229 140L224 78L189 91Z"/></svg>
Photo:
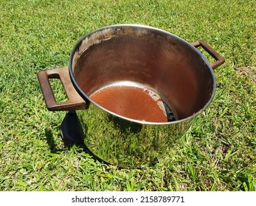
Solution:
<svg viewBox="0 0 256 206"><path fill-rule="evenodd" d="M176 139L187 131L191 121L139 124L105 113L94 104L89 110L77 110L77 116L91 152L107 163L135 168L152 166L159 158L165 157Z"/></svg>

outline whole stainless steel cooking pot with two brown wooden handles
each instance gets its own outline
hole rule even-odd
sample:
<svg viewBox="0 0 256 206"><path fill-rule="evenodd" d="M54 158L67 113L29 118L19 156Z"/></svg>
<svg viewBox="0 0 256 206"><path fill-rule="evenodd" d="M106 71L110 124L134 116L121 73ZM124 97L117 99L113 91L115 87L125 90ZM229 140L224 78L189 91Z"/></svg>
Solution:
<svg viewBox="0 0 256 206"><path fill-rule="evenodd" d="M202 40L188 43L162 29L120 24L83 36L69 67L39 71L38 79L48 110L76 110L93 154L136 168L165 157L212 102L212 68L222 63ZM55 101L49 78L61 80L68 101Z"/></svg>

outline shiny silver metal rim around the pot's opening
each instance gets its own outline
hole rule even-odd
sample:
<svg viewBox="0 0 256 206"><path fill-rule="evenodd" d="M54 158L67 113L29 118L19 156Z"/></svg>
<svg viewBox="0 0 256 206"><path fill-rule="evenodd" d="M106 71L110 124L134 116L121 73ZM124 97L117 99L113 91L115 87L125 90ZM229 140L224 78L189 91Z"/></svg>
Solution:
<svg viewBox="0 0 256 206"><path fill-rule="evenodd" d="M95 32L99 32L103 29L110 29L110 28L119 28L119 27L139 27L139 28L144 28L144 29L151 29L151 30L155 30L155 31L158 31L158 32L162 32L162 33L165 33L166 35L170 35L172 36L173 38L176 38L178 40L180 40L182 43L186 44L187 46L190 47L190 49L193 49L193 51L195 51L203 60L204 60L204 63L207 65L207 67L209 68L210 70L210 74L211 74L211 77L212 77L212 94L210 96L210 99L208 100L208 102L204 105L204 107L202 107L200 110L198 110L197 113L194 113L192 116L189 116L187 118L182 118L182 119L179 119L179 120L176 120L176 121L167 121L167 122L151 122L151 121L140 121L140 120L136 120L136 119L133 119L133 118L127 118L125 116L120 116L118 115L117 113L113 113L111 112L110 110L106 110L104 107L100 106L100 104L97 104L96 102L94 102L89 96L86 95L86 93L83 92L83 90L80 88L80 86L77 84L77 82L75 81L75 77L74 77L74 74L72 72L72 57L74 56L75 54L75 51L77 51L77 48L80 46L80 43L82 43L82 41L89 35L95 33ZM172 33L170 32L167 32L163 29L158 29L158 28L155 28L153 26L145 26L145 25L142 25L142 24L114 24L114 25L110 25L110 26L103 26L99 29L94 29L93 31L87 33L86 35L83 35L82 38L80 38L80 40L77 41L77 43L75 44L75 46L73 47L72 49L72 52L69 56L69 76L70 76L70 79L72 81L72 84L75 88L75 90L77 90L77 93L80 94L80 96L85 100L85 101L89 101L91 102L92 104L94 104L96 107L99 107L100 109L104 110L105 112L107 113L110 113L111 115L113 116L117 116L119 118L122 118L122 119L125 119L127 121L132 121L132 122L136 122L136 123L139 123L139 124L153 124L153 125L168 125L168 124L177 124L177 123L181 123L183 121L188 121L196 116L198 116L199 114L201 114L204 110L207 109L207 107L210 105L210 103L212 102L212 99L213 97L215 96L215 91L216 91L216 82L215 82L215 75L214 75L214 72L213 72L213 69L210 65L210 63L208 62L208 60L206 59L206 57L204 57L203 54L201 54L200 51L198 51L198 49L196 49L195 46L191 45L190 43L188 43L186 40L180 38L179 36L176 36L176 35L173 35Z"/></svg>

